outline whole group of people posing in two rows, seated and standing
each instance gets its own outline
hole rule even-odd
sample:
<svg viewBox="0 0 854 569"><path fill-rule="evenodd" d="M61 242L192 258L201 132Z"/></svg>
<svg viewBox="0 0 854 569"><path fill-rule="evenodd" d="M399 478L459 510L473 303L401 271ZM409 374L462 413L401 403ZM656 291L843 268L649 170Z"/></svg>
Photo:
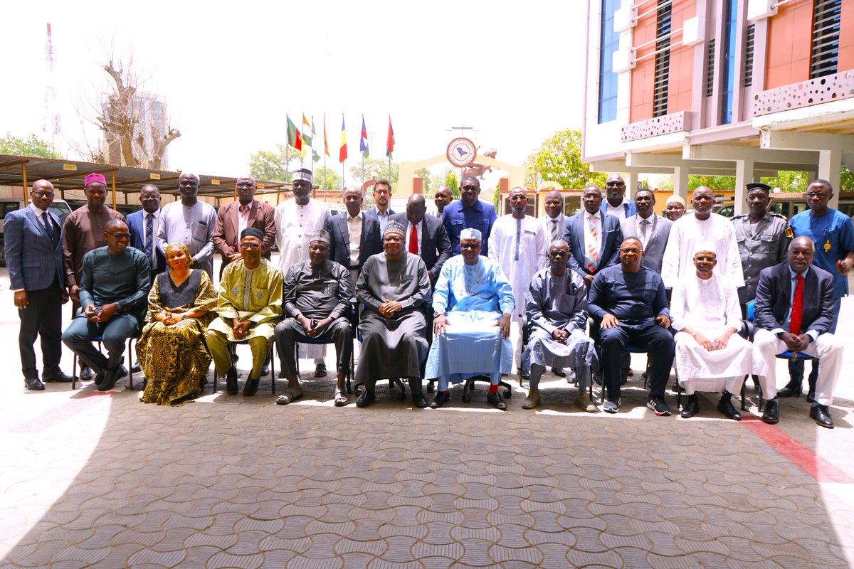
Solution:
<svg viewBox="0 0 854 569"><path fill-rule="evenodd" d="M124 219L104 203L105 179L91 174L86 206L60 227L48 211L53 186L32 184L29 206L5 220L28 389L72 380L59 368L63 341L87 368L80 377L88 372L107 391L127 373L127 339L138 337L143 401L194 398L212 360L214 381L225 377L233 395L240 389L234 345L246 343L253 362L243 395L254 395L270 373L275 345L288 382L277 403L289 404L304 395L298 359L313 359L313 375L323 377L326 345L334 344L334 402L342 406L358 338L359 407L376 399L380 379L406 378L420 408L428 405L422 380L436 380L430 406L437 408L447 404L450 383L481 377L488 403L506 409L499 386L515 361L529 380L525 409L541 404L539 383L551 368L577 383L575 404L589 412L599 410L588 396L598 376L601 408L616 413L629 352L646 351L646 401L656 415L670 415L664 392L676 363L687 394L683 417L699 412L696 392L722 392L717 408L740 419L731 397L755 374L763 420L774 423L777 397L800 393L797 354L805 354L813 360L810 416L833 427L828 405L842 363L833 333L854 264L854 224L828 207L827 181L810 183L810 210L791 222L769 213L762 183L748 184L749 212L732 220L711 212L715 198L705 187L693 191L691 211L672 200L663 217L651 190L629 200L616 174L605 196L585 188L573 216L564 216L563 196L549 192L543 218L526 214L522 188L510 192L511 212L497 217L478 199L476 177L463 178L459 200L437 190L436 214L427 213L423 195L393 212L391 185L379 180L374 208L363 211L361 189L347 188L347 211L330 216L311 198L312 172L303 169L294 174L294 199L275 208L254 199L250 176L237 179L237 200L218 212L197 199L198 187L196 175L183 173L181 200L161 208L159 190L144 186L143 209ZM75 317L61 332L68 298ZM739 334L748 316L752 338ZM92 344L97 338L106 355ZM794 354L795 379L778 392L775 358L783 351Z"/></svg>

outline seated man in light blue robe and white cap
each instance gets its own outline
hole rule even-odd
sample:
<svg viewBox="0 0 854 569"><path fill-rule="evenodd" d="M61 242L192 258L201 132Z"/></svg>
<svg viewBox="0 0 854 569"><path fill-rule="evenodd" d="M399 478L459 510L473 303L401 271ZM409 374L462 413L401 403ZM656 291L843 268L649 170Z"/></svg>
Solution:
<svg viewBox="0 0 854 569"><path fill-rule="evenodd" d="M430 403L433 409L450 398L449 381L459 383L485 374L491 381L487 401L496 409L507 409L498 382L501 374L510 373L513 364L510 316L516 300L499 264L480 256L481 245L478 229L463 229L459 234L460 254L447 260L436 282L436 335L424 373L439 380Z"/></svg>

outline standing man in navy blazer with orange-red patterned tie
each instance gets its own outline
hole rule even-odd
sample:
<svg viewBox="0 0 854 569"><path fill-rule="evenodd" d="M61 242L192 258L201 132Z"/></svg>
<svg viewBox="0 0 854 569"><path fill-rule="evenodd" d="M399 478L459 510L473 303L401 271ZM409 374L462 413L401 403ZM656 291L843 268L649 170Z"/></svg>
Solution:
<svg viewBox="0 0 854 569"><path fill-rule="evenodd" d="M588 186L582 195L584 211L568 218L564 224L564 241L570 246L568 266L584 278L588 288L600 270L619 263L620 243L623 242L620 220L600 212L601 204L602 189L599 186ZM586 247L590 221L596 224L597 236L594 241L599 241L600 247L588 258ZM593 239L593 234L590 237Z"/></svg>

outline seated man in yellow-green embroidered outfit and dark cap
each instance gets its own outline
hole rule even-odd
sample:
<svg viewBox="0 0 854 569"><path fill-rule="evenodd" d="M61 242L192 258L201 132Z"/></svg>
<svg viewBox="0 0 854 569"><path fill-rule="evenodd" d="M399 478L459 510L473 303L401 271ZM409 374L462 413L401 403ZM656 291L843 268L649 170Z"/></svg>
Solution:
<svg viewBox="0 0 854 569"><path fill-rule="evenodd" d="M282 314L282 271L261 257L264 233L248 227L240 232L241 262L229 263L219 280L218 318L208 325L205 341L213 357L214 374L225 374L225 392L237 395L237 368L231 362L231 342L248 340L252 371L243 395L258 392L261 367L270 351L275 322ZM272 381L275 381L272 378Z"/></svg>

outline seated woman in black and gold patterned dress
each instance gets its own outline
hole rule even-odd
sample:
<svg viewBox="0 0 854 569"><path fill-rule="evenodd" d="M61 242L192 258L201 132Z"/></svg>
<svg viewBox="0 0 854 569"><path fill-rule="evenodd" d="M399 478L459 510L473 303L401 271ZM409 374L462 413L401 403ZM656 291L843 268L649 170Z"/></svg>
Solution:
<svg viewBox="0 0 854 569"><path fill-rule="evenodd" d="M208 374L211 357L203 339L216 316L216 290L204 270L190 269L184 243L166 248L169 269L155 277L148 322L137 341L145 374L143 403L180 405L191 399Z"/></svg>

